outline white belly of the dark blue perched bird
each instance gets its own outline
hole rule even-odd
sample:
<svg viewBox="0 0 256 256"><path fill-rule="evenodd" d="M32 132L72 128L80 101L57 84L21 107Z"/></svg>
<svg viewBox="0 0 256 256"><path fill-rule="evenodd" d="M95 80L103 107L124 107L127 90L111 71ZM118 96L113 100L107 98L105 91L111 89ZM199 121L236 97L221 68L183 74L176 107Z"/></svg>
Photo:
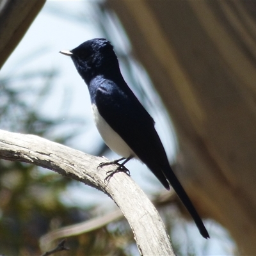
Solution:
<svg viewBox="0 0 256 256"><path fill-rule="evenodd" d="M109 124L100 115L95 104L92 105L93 118L96 127L105 141L106 145L116 152L119 156L128 158L130 156L136 157L131 148L125 143L125 141L109 126Z"/></svg>

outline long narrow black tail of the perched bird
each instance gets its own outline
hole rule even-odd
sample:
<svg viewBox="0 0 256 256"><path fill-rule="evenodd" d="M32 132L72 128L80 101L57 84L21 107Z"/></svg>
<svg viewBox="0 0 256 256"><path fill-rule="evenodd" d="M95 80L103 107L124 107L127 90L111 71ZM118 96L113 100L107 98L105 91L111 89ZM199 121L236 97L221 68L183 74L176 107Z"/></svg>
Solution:
<svg viewBox="0 0 256 256"><path fill-rule="evenodd" d="M168 169L169 170L164 170L164 175L166 176L166 179L168 179L168 181L172 185L173 189L175 190L175 192L179 196L180 200L185 205L185 207L188 210L189 214L191 215L191 217L195 221L196 226L198 227L198 230L199 230L200 234L205 239L210 238L210 236L209 236L209 234L208 234L208 232L207 232L207 230L206 230L206 228L204 226L203 221L201 220L200 216L196 212L196 209L195 209L194 205L192 204L191 200L189 199L186 191L184 190L184 188L182 188L179 180L177 179L177 177L173 173L172 168L169 166Z"/></svg>

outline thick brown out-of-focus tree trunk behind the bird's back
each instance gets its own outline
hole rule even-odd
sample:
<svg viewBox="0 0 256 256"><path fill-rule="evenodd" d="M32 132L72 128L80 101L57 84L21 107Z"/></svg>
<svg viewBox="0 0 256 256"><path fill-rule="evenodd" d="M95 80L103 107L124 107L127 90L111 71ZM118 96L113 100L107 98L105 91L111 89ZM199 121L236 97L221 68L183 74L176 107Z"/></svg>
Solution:
<svg viewBox="0 0 256 256"><path fill-rule="evenodd" d="M256 255L256 5L108 1L169 111L177 176L202 216ZM210 234L211 236L211 234Z"/></svg>

